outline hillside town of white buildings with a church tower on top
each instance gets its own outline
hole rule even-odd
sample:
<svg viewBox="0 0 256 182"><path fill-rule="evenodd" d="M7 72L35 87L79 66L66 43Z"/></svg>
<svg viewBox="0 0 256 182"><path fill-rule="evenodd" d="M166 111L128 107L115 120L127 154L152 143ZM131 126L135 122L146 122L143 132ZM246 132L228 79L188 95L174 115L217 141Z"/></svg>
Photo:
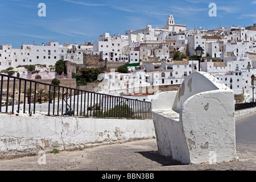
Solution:
<svg viewBox="0 0 256 182"><path fill-rule="evenodd" d="M127 30L125 35L105 32L94 43L22 44L18 49L12 44L2 45L0 71L28 79L67 79L78 78L79 69L98 68L101 75L94 83L97 92L154 94L177 90L185 77L199 71L195 49L200 46L204 49L200 71L208 72L241 96L239 102L251 102L251 75L256 74L255 42L255 23L247 27L187 30L170 15L163 27L146 25L141 30ZM62 74L55 70L59 60L65 63ZM29 70L25 65L35 68ZM119 69L124 65L127 71Z"/></svg>

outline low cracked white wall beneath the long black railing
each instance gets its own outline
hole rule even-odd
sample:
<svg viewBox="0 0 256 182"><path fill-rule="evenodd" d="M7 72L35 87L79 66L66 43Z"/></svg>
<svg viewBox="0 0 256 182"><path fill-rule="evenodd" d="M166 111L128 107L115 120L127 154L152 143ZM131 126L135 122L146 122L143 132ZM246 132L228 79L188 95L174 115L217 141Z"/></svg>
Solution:
<svg viewBox="0 0 256 182"><path fill-rule="evenodd" d="M82 117L0 116L0 158L75 150L155 136L152 120Z"/></svg>

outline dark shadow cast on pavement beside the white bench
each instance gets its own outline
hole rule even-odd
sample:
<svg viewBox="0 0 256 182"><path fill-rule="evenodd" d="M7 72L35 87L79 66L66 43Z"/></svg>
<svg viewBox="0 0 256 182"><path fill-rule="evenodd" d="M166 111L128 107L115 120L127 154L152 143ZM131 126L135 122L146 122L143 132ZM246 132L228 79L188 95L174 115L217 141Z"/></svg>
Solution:
<svg viewBox="0 0 256 182"><path fill-rule="evenodd" d="M162 164L162 166L177 166L177 165L185 165L180 163L177 160L167 158L166 156L161 155L158 151L143 151L143 152L137 152L144 156L147 159L150 159L154 162L157 162L159 164Z"/></svg>

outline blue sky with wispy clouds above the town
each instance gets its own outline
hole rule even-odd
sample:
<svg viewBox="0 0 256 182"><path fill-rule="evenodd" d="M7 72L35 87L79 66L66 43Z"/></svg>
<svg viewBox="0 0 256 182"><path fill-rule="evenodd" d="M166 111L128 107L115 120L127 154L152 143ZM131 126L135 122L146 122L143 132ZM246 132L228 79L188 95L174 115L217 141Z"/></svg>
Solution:
<svg viewBox="0 0 256 182"><path fill-rule="evenodd" d="M39 17L39 3L46 4L46 17ZM209 3L216 3L217 16L210 17ZM0 45L95 42L104 32L163 27L169 14L188 29L251 26L256 23L256 0L1 0Z"/></svg>

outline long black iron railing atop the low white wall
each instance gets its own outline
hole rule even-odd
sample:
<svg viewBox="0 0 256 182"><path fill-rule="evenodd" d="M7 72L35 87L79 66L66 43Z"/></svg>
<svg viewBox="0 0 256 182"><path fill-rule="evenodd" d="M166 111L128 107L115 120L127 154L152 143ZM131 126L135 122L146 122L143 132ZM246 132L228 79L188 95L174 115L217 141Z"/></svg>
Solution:
<svg viewBox="0 0 256 182"><path fill-rule="evenodd" d="M0 113L151 119L151 102L0 73Z"/></svg>

